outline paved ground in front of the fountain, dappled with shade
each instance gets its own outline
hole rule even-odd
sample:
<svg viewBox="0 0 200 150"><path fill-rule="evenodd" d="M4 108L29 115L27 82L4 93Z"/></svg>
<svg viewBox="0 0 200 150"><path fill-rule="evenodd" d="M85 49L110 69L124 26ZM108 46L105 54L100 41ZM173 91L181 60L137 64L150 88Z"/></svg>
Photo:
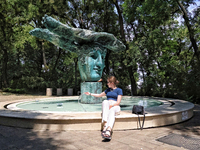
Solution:
<svg viewBox="0 0 200 150"><path fill-rule="evenodd" d="M3 99L0 95L1 100L5 101L5 96ZM195 105L194 117L186 122L142 131L114 130L111 141L103 140L100 131L53 132L0 126L0 150L183 150L156 141L172 133L200 140L200 105Z"/></svg>

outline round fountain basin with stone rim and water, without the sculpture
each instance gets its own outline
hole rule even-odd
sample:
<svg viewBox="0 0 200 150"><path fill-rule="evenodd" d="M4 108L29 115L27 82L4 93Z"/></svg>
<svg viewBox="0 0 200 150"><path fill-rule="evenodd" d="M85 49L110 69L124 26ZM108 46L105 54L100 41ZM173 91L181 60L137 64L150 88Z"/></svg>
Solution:
<svg viewBox="0 0 200 150"><path fill-rule="evenodd" d="M75 102L74 100L76 99L78 99L78 96L0 102L0 124L32 128L34 130L100 130L101 104L84 104L86 105L84 109L78 109L77 111L74 110L72 107L73 105L70 104ZM140 100L137 101L137 99ZM68 106L71 106L70 111L58 111L61 109L66 110L64 109L66 107L64 101L66 101ZM41 106L42 109L40 110L21 108L25 106L25 104L32 105L38 102L53 103L56 109L47 110L49 106ZM154 105L155 103L157 105ZM131 113L132 106L135 104L146 105L144 128L180 123L193 116L194 104L187 101L123 96L121 112L120 115L116 116L114 130L139 128L138 116ZM74 108L76 108L77 105L82 104L76 101ZM142 120L143 116L140 115L140 117Z"/></svg>

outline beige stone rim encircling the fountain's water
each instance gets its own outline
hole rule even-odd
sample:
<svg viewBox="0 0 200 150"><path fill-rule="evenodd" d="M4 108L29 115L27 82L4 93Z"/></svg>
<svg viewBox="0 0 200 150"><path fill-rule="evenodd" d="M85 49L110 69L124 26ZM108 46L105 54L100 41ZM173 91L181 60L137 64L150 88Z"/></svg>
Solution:
<svg viewBox="0 0 200 150"><path fill-rule="evenodd" d="M130 96L124 96L130 97ZM78 96L48 97L39 99L69 98ZM179 100L160 97L152 98L164 102L163 105L147 108L145 112L144 128L159 127L180 123L193 116L194 104ZM34 130L100 130L101 112L61 112L46 113L30 110L9 110L6 105L35 99L13 100L0 102L0 124L6 126L32 128ZM175 105L171 106L171 104ZM143 116L140 116L141 119ZM116 116L115 130L138 129L138 116L132 114L131 110L121 111Z"/></svg>

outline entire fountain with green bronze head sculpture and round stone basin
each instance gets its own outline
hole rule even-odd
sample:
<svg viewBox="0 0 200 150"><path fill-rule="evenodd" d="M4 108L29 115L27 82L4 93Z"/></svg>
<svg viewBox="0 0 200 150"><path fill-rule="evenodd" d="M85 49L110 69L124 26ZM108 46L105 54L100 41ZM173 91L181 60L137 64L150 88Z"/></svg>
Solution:
<svg viewBox="0 0 200 150"><path fill-rule="evenodd" d="M106 51L124 50L124 44L112 34L71 28L47 15L44 17L44 25L47 29L36 28L30 34L78 54L78 66L83 81L82 94L80 97L0 102L0 124L35 130L100 130L102 99L83 93L102 92L101 82L97 81L102 76ZM194 104L190 102L123 96L122 111L116 116L115 130L139 127L137 115L131 113L134 104L145 106L144 128L175 124L193 116Z"/></svg>

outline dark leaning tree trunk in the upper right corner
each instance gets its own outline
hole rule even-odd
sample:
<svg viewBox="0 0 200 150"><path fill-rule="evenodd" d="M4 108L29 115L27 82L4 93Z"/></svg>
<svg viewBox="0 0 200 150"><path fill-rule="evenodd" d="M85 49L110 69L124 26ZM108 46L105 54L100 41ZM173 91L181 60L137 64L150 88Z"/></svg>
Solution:
<svg viewBox="0 0 200 150"><path fill-rule="evenodd" d="M196 43L196 40L194 38L194 30L192 29L191 25L190 25L190 22L189 22L189 17L187 15L187 11L185 10L184 6L182 5L181 2L179 2L177 0L177 3L181 9L181 12L183 13L183 18L185 20L185 24L188 28L188 31L189 31L189 36L190 36L190 41L192 43L192 47L194 49L194 54L195 56L197 57L197 60L198 60L198 63L200 64L200 61L199 61L199 53L198 53L198 46L197 46L197 43Z"/></svg>

